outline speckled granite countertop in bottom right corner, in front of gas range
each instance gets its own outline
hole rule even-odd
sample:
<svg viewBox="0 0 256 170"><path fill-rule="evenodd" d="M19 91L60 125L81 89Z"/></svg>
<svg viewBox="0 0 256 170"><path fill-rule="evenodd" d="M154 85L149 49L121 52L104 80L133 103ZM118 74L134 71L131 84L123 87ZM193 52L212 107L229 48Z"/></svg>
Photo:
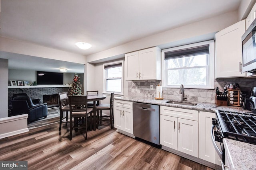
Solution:
<svg viewBox="0 0 256 170"><path fill-rule="evenodd" d="M256 145L227 138L223 139L223 145L229 170L256 169Z"/></svg>

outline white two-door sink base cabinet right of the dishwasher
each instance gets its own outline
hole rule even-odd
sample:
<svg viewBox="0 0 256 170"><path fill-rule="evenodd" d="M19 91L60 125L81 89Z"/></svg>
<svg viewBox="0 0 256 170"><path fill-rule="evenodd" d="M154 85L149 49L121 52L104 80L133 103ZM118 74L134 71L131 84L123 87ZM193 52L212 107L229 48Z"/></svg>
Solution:
<svg viewBox="0 0 256 170"><path fill-rule="evenodd" d="M198 157L198 111L160 106L160 144Z"/></svg>

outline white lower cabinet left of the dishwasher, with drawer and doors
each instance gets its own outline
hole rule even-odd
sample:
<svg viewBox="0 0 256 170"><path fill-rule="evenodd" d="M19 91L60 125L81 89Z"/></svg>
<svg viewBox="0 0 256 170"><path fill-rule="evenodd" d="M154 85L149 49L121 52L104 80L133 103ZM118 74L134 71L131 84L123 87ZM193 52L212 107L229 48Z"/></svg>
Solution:
<svg viewBox="0 0 256 170"><path fill-rule="evenodd" d="M114 127L133 134L132 102L114 100Z"/></svg>

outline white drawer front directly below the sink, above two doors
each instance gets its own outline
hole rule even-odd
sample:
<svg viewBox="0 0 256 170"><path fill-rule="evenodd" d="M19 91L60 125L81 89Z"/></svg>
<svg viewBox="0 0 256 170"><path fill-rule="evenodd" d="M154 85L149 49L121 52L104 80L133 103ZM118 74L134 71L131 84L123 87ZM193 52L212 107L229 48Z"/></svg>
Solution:
<svg viewBox="0 0 256 170"><path fill-rule="evenodd" d="M190 109L182 109L177 107L160 106L160 114L182 119L198 121L198 111Z"/></svg>

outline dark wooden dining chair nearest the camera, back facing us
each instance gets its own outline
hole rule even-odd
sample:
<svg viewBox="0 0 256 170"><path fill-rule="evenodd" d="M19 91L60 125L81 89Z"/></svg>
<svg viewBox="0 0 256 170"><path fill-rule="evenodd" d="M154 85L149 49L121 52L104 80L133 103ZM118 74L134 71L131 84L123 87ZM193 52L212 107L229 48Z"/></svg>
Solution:
<svg viewBox="0 0 256 170"><path fill-rule="evenodd" d="M72 140L73 129L79 126L85 127L85 139L87 139L88 114L92 114L93 110L87 106L87 96L68 96L68 100L70 105L70 141ZM90 121L91 123L92 121Z"/></svg>

